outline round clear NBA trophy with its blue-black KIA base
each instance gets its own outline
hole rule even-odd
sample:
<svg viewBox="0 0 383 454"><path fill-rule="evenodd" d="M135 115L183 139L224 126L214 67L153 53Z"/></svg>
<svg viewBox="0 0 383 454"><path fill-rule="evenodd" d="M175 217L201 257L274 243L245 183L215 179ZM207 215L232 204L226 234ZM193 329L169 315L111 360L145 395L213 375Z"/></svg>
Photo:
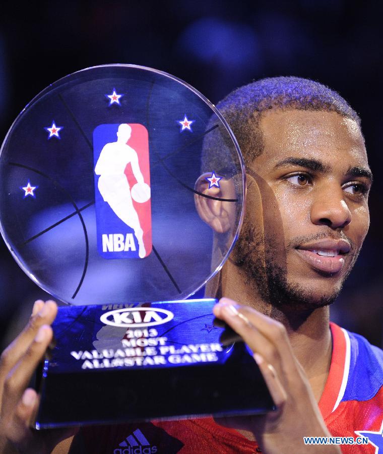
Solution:
<svg viewBox="0 0 383 454"><path fill-rule="evenodd" d="M247 346L222 342L216 300L190 299L217 277L244 206L238 144L201 93L134 65L64 77L12 125L0 184L8 248L67 303L35 428L274 408Z"/></svg>

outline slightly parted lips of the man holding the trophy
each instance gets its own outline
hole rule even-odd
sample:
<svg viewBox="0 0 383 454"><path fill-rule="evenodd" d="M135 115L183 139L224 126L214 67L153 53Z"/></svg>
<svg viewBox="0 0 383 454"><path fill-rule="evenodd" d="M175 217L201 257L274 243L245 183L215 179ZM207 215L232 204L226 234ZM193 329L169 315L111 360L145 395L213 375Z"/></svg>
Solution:
<svg viewBox="0 0 383 454"><path fill-rule="evenodd" d="M327 239L300 245L295 250L312 268L335 274L343 268L344 256L350 252L351 245L346 240Z"/></svg>

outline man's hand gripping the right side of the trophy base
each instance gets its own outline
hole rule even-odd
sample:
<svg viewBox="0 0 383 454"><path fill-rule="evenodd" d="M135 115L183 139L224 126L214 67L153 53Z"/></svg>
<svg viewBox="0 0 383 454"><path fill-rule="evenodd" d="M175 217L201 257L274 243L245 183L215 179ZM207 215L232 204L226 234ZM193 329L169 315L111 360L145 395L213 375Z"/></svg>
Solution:
<svg viewBox="0 0 383 454"><path fill-rule="evenodd" d="M267 454L340 453L339 446L304 445L304 436L331 436L315 402L308 379L295 358L282 323L235 301L222 298L213 309L253 352L276 412L267 415L222 418L219 423L253 433ZM240 385L240 383L239 383Z"/></svg>

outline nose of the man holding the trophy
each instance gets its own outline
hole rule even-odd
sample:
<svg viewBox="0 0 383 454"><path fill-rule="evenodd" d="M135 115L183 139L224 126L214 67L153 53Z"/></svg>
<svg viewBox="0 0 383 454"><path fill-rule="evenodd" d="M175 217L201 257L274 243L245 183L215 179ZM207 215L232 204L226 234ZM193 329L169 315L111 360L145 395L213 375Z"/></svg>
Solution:
<svg viewBox="0 0 383 454"><path fill-rule="evenodd" d="M344 229L351 222L351 212L344 200L343 190L329 185L327 190L315 191L311 205L311 222L328 225L332 229Z"/></svg>

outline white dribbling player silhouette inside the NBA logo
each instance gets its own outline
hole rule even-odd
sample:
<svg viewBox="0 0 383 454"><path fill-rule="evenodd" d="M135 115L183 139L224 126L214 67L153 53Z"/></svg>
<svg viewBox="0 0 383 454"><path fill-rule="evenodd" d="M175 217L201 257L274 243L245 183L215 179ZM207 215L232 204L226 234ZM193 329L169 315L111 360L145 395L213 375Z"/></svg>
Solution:
<svg viewBox="0 0 383 454"><path fill-rule="evenodd" d="M141 186L145 185L137 153L126 143L131 138L131 134L132 128L129 125L119 125L117 141L104 145L94 171L100 175L98 179L100 194L115 214L134 230L139 245L138 255L143 258L146 255L143 230L133 206L131 188L124 173L126 164L130 162L137 183Z"/></svg>

